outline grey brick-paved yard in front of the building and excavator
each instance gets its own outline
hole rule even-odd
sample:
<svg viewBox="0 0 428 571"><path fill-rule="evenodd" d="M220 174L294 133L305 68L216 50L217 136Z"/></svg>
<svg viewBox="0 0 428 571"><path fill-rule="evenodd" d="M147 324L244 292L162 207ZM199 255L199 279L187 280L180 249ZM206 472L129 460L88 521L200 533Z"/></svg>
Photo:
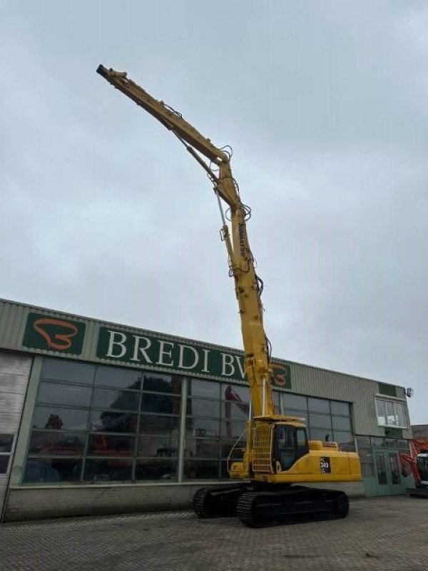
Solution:
<svg viewBox="0 0 428 571"><path fill-rule="evenodd" d="M356 500L346 520L253 530L191 512L0 525L1 571L427 571L428 500Z"/></svg>

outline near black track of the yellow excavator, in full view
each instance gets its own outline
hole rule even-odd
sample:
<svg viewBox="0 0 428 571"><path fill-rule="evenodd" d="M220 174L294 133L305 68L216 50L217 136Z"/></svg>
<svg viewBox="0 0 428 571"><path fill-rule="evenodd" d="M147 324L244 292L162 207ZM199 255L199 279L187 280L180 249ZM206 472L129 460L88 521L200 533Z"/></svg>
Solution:
<svg viewBox="0 0 428 571"><path fill-rule="evenodd" d="M344 492L292 486L282 490L244 492L236 512L244 525L264 527L346 517L349 505Z"/></svg>

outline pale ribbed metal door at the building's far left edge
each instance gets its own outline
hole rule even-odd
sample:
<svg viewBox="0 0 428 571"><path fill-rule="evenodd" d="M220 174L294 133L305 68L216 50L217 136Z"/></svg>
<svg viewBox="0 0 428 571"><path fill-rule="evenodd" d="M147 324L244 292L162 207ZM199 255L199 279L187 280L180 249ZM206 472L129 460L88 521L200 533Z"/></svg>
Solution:
<svg viewBox="0 0 428 571"><path fill-rule="evenodd" d="M31 358L6 351L0 351L0 433L16 435L21 422L26 388L29 383ZM11 452L14 447L12 445ZM3 510L6 487L11 469L11 458L6 474L0 475L0 515Z"/></svg>

